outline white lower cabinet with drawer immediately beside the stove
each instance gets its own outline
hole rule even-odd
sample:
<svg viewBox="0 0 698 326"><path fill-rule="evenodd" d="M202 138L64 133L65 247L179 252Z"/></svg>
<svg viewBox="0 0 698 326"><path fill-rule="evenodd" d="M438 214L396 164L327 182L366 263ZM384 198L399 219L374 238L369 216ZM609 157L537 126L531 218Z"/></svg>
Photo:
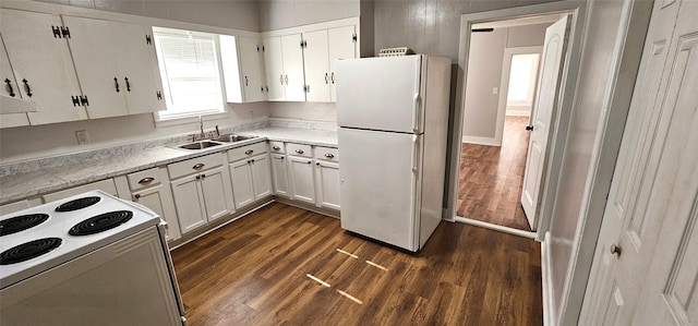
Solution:
<svg viewBox="0 0 698 326"><path fill-rule="evenodd" d="M127 176L131 200L153 209L166 222L165 239L177 240L181 237L172 190L168 186L167 171L165 168L152 168Z"/></svg>

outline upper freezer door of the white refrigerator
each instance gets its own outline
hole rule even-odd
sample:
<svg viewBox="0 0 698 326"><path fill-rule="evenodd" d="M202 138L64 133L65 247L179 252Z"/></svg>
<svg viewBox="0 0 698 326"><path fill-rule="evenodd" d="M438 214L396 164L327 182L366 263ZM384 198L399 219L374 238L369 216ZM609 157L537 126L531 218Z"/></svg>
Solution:
<svg viewBox="0 0 698 326"><path fill-rule="evenodd" d="M339 126L421 133L422 56L339 60Z"/></svg>

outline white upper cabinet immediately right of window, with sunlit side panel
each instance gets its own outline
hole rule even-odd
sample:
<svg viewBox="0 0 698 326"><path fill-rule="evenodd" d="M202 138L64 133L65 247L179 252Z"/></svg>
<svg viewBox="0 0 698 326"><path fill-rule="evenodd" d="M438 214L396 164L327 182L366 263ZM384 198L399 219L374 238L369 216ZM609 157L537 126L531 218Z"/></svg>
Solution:
<svg viewBox="0 0 698 326"><path fill-rule="evenodd" d="M254 102L266 100L262 67L262 41L253 37L220 35L220 62L226 83L226 100Z"/></svg>

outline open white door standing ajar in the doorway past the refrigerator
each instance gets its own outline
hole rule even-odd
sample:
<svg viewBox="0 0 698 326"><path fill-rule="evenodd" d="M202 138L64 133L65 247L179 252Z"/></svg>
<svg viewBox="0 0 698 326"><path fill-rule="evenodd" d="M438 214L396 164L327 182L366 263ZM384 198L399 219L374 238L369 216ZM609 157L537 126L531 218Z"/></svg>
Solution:
<svg viewBox="0 0 698 326"><path fill-rule="evenodd" d="M535 230L541 180L545 169L545 154L551 133L551 121L557 107L557 93L561 86L563 60L567 46L569 31L568 16L562 17L545 29L543 58L541 59L540 77L538 79L538 96L533 114L531 116L531 137L528 143L526 172L524 173L524 189L521 191L521 206L526 218Z"/></svg>

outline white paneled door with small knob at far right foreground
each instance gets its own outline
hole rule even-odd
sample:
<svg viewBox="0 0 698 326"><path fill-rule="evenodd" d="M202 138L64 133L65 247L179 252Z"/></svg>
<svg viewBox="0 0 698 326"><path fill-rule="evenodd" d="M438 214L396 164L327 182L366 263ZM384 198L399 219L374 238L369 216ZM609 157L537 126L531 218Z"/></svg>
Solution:
<svg viewBox="0 0 698 326"><path fill-rule="evenodd" d="M698 323L698 2L654 2L583 325Z"/></svg>

